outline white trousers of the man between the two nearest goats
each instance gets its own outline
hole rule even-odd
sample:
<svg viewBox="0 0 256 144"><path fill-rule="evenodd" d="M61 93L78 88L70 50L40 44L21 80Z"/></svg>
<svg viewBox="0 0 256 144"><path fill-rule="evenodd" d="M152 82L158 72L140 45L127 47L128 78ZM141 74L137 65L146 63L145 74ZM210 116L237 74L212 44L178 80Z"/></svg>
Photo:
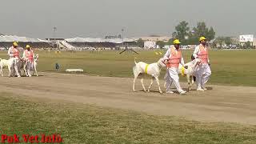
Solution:
<svg viewBox="0 0 256 144"><path fill-rule="evenodd" d="M166 71L166 90L170 90L170 85L174 82L174 86L176 87L176 89L178 90L179 93L181 93L182 87L179 84L179 77L178 77L178 68L167 68Z"/></svg>

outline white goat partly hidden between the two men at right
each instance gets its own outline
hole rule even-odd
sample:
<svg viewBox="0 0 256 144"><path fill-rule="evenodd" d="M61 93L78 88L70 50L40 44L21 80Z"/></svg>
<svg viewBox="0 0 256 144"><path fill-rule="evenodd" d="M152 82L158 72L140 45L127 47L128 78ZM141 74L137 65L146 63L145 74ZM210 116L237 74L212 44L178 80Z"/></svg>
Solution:
<svg viewBox="0 0 256 144"><path fill-rule="evenodd" d="M201 59L195 58L193 61L186 63L184 66L187 66L187 69L182 68L182 65L180 64L178 66L178 74L185 74L186 75L186 80L188 83L188 91L191 90L191 87L194 84L194 72L197 70L198 65L201 63ZM183 71L183 72L182 72ZM190 83L190 77L191 77L191 83ZM165 79L167 78L167 74L165 75ZM166 82L165 85L166 87Z"/></svg>

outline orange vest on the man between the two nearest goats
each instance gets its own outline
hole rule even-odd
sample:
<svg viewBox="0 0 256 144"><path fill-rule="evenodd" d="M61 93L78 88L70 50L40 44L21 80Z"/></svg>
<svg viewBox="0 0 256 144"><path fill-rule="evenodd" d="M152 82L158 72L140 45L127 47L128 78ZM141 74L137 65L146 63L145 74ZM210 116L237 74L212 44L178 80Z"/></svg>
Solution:
<svg viewBox="0 0 256 144"><path fill-rule="evenodd" d="M182 60L182 51L181 50L176 50L175 47L170 48L170 58L168 60L168 63L166 66L168 68L170 67L175 67L178 68L179 63Z"/></svg>

